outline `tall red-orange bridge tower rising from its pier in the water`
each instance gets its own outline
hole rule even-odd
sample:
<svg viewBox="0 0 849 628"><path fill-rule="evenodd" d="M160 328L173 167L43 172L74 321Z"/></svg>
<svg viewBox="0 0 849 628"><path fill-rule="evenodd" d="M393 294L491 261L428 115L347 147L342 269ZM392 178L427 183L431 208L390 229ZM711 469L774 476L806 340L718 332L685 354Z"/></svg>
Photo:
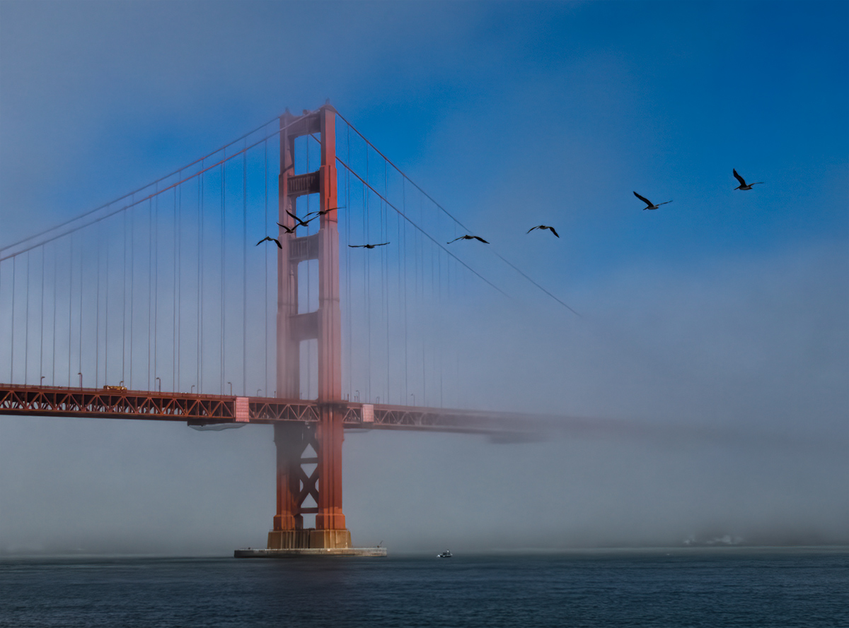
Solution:
<svg viewBox="0 0 849 628"><path fill-rule="evenodd" d="M295 138L321 136L321 164L295 175ZM318 193L318 233L296 236L279 230L277 314L277 396L301 397L301 342L318 342L318 423L279 421L277 514L268 533L269 549L347 548L351 532L342 513L342 376L339 304L339 229L336 216L335 109L325 104L314 114L280 117L279 223L295 227L295 199ZM298 313L298 264L318 260L318 309ZM312 447L314 453L309 453ZM315 465L307 473L304 465ZM307 497L317 506L305 507ZM315 514L315 528L303 515Z"/></svg>

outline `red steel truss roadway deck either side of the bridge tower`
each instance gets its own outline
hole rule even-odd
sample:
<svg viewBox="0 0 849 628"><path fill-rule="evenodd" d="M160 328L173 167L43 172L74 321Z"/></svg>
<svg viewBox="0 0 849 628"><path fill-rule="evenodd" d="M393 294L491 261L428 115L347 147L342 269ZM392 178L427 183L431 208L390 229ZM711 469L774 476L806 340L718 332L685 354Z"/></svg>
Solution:
<svg viewBox="0 0 849 628"><path fill-rule="evenodd" d="M496 437L499 434L530 436L539 428L527 414L349 401L340 402L339 410L346 428L459 432ZM318 422L318 402L186 392L0 384L0 414L185 421L188 425L273 424L278 421Z"/></svg>

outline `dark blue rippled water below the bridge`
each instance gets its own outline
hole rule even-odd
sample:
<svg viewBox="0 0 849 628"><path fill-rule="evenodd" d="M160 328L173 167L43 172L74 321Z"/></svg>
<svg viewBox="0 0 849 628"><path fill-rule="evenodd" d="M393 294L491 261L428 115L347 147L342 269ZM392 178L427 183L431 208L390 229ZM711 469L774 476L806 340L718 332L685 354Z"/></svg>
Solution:
<svg viewBox="0 0 849 628"><path fill-rule="evenodd" d="M0 626L849 626L849 553L0 562Z"/></svg>

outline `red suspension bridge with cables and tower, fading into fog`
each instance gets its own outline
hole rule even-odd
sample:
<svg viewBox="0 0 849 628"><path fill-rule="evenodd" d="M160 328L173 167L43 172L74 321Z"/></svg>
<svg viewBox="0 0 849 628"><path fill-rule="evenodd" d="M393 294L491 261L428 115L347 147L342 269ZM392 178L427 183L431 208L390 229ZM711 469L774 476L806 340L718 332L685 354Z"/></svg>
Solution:
<svg viewBox="0 0 849 628"><path fill-rule="evenodd" d="M346 428L531 429L462 409L469 303L507 297L468 232L329 103L287 110L0 249L0 414L273 425L273 527L241 555L363 553Z"/></svg>

